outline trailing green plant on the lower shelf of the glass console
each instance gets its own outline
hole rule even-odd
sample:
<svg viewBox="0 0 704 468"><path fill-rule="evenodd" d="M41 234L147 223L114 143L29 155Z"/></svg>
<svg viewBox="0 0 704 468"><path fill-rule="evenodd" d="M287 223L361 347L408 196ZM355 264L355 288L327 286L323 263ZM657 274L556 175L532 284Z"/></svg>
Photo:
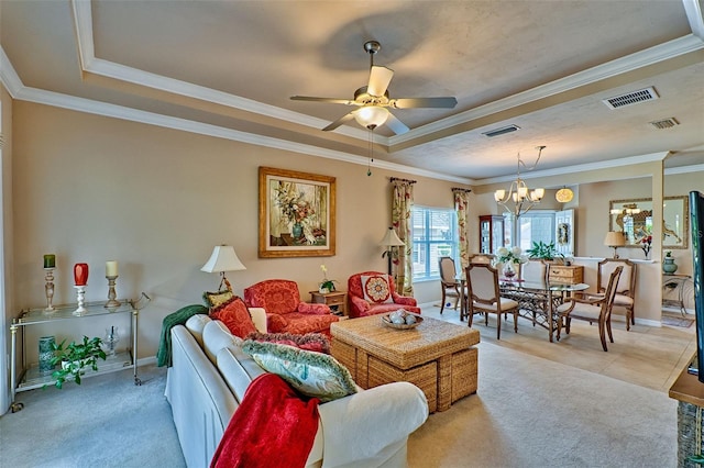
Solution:
<svg viewBox="0 0 704 468"><path fill-rule="evenodd" d="M52 377L56 379L56 388L61 389L66 380L73 379L80 385L80 376L87 369L98 370L98 358L106 360L106 352L102 350L102 339L99 337L88 338L84 336L82 342L70 342L66 345L66 339L52 346L54 357L52 365L61 364L61 368L54 370Z"/></svg>

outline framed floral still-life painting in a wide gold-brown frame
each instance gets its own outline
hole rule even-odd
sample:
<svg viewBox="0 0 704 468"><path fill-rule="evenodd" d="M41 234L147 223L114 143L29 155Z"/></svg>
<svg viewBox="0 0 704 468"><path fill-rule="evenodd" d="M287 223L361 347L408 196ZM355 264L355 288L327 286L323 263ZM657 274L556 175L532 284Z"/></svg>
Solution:
<svg viewBox="0 0 704 468"><path fill-rule="evenodd" d="M336 178L260 167L260 257L334 255Z"/></svg>

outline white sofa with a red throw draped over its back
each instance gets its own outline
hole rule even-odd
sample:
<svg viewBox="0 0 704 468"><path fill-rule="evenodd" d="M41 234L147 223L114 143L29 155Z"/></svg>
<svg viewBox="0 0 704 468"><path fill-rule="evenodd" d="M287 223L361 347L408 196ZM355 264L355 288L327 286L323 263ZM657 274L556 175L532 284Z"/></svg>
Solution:
<svg viewBox="0 0 704 468"><path fill-rule="evenodd" d="M250 310L266 331L263 309ZM220 321L195 315L172 328L173 367L166 398L186 463L208 467L250 382L264 370ZM395 382L318 406L307 467L405 467L408 435L428 417L422 391Z"/></svg>

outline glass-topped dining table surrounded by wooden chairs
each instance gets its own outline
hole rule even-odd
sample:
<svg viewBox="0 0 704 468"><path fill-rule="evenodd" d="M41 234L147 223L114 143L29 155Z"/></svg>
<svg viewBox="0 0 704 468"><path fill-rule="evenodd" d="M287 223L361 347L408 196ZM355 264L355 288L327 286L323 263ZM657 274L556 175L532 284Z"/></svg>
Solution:
<svg viewBox="0 0 704 468"><path fill-rule="evenodd" d="M469 313L469 298L466 297L466 280L460 279L462 285L460 298L460 317ZM557 331L558 307L574 292L590 288L584 282L570 285L547 281L524 281L521 279L499 278L501 296L518 302L518 316L528 319L534 326L540 325L548 331L550 343Z"/></svg>

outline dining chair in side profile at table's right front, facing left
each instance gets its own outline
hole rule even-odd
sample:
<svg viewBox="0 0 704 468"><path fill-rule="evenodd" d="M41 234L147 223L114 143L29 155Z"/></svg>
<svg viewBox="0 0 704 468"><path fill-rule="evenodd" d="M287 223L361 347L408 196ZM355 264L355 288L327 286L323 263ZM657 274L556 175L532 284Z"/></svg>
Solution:
<svg viewBox="0 0 704 468"><path fill-rule="evenodd" d="M572 297L558 307L558 341L560 341L562 321L564 321L565 333L568 335L570 334L572 319L584 320L590 324L597 322L602 347L605 352L608 350L606 347L606 333L608 333L608 339L614 343L614 335L612 335L612 307L614 305L614 297L616 296L616 285L618 285L623 269L623 266L618 266L612 271L603 296Z"/></svg>

